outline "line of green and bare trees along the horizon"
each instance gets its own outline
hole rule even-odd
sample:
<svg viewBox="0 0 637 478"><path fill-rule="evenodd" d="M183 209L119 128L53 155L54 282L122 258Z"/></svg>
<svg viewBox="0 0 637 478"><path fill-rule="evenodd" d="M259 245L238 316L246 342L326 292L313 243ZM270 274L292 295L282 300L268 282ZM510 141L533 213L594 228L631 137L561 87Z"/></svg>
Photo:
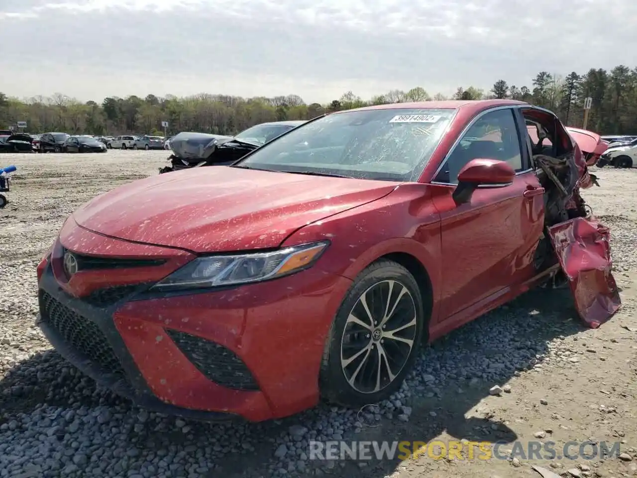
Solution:
<svg viewBox="0 0 637 478"><path fill-rule="evenodd" d="M540 71L530 85L510 85L497 80L490 91L459 87L446 98L430 96L426 89L392 90L371 99L348 91L331 103L307 104L300 96L241 98L222 94L197 94L185 98L148 94L104 98L101 103L83 103L61 93L52 97L11 98L0 92L0 128L27 122L27 131L65 131L74 134L162 134L162 121L168 133L200 131L234 134L262 122L312 119L327 112L349 110L366 105L440 99L511 98L548 108L568 126L582 127L584 99L592 98L587 129L600 134L637 134L637 68L624 65L610 71L591 68L580 75L566 76Z"/></svg>

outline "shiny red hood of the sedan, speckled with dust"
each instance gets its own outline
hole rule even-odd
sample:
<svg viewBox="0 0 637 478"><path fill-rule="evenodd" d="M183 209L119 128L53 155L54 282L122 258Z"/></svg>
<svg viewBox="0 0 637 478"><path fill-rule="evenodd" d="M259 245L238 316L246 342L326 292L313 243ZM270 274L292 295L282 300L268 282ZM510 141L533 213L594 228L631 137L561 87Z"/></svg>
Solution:
<svg viewBox="0 0 637 478"><path fill-rule="evenodd" d="M194 252L268 249L306 224L395 188L386 181L193 168L118 187L73 216L96 233Z"/></svg>

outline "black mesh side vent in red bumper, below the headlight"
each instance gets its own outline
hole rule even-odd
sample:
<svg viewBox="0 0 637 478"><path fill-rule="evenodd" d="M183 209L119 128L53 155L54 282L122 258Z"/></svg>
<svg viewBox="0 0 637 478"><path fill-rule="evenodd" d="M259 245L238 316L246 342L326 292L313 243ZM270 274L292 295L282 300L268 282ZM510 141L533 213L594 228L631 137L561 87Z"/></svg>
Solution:
<svg viewBox="0 0 637 478"><path fill-rule="evenodd" d="M258 390L247 365L224 346L189 333L166 329L168 336L208 380L236 390Z"/></svg>

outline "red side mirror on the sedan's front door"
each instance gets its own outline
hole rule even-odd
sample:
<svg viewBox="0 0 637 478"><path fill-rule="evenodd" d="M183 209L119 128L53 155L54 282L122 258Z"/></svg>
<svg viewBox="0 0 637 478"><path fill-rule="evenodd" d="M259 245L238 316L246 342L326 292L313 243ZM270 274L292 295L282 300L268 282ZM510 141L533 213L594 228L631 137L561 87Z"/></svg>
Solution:
<svg viewBox="0 0 637 478"><path fill-rule="evenodd" d="M513 182L515 170L505 161L472 159L458 173L453 198L457 205L471 201L478 187L506 187Z"/></svg>

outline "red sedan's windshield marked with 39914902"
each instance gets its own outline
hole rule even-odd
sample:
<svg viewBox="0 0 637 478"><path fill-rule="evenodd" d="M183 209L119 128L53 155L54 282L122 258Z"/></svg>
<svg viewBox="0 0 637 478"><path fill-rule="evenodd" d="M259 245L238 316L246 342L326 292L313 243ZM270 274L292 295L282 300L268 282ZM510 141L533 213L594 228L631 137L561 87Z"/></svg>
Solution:
<svg viewBox="0 0 637 478"><path fill-rule="evenodd" d="M256 150L239 167L415 181L455 110L379 109L327 115Z"/></svg>

